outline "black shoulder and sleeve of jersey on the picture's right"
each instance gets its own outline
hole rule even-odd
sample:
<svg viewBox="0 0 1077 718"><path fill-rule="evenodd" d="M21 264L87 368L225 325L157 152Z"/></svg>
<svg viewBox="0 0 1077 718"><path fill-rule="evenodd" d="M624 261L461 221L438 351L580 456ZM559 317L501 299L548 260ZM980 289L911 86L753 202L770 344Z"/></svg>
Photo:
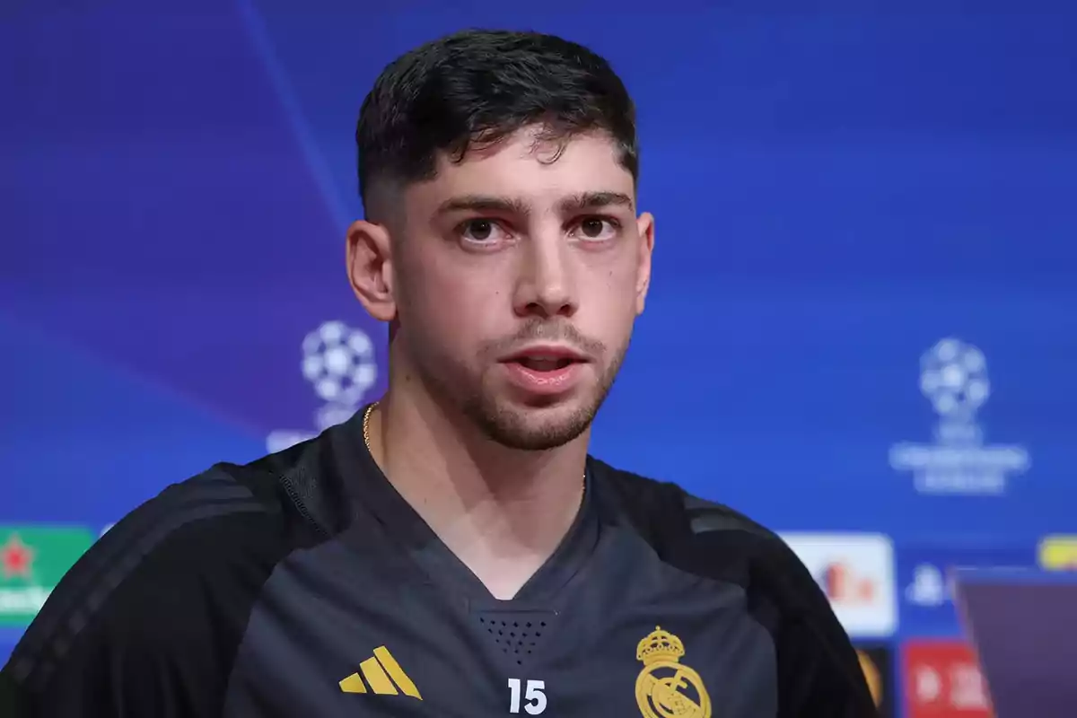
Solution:
<svg viewBox="0 0 1077 718"><path fill-rule="evenodd" d="M778 534L675 483L592 465L661 561L743 589L747 613L773 640L780 716L877 715L849 635L815 578Z"/></svg>

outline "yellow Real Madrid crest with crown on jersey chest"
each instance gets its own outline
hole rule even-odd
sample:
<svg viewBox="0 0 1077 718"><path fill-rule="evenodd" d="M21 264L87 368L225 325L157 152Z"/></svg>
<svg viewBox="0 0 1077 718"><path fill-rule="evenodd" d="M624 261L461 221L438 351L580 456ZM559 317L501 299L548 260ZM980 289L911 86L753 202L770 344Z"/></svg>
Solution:
<svg viewBox="0 0 1077 718"><path fill-rule="evenodd" d="M635 679L635 702L644 718L711 718L711 696L699 674L681 664L684 644L655 627L635 648L643 670Z"/></svg>

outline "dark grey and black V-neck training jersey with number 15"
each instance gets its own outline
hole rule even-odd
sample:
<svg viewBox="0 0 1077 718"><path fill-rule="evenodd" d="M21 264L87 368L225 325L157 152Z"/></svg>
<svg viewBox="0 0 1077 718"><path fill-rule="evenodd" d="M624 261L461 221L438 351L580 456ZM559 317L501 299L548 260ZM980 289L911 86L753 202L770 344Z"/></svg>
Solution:
<svg viewBox="0 0 1077 718"><path fill-rule="evenodd" d="M361 418L113 526L15 648L0 715L875 715L774 534L591 459L575 525L498 601L378 469Z"/></svg>

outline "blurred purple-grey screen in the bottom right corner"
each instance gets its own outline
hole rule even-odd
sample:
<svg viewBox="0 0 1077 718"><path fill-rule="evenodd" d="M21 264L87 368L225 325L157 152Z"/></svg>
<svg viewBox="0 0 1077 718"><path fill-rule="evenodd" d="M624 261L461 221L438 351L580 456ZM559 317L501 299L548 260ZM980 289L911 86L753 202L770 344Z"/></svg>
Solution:
<svg viewBox="0 0 1077 718"><path fill-rule="evenodd" d="M995 716L1077 716L1077 573L962 568L954 587Z"/></svg>

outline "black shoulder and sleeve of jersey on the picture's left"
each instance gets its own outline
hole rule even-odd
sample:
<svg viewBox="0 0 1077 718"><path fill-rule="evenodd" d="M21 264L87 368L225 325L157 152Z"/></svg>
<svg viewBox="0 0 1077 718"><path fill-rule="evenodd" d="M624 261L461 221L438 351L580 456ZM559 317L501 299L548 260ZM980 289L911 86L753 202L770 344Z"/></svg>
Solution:
<svg viewBox="0 0 1077 718"><path fill-rule="evenodd" d="M5 678L30 695L78 695L139 676L223 681L274 568L328 535L303 502L304 491L317 492L292 476L306 450L218 464L125 516L64 576ZM106 666L111 675L98 676Z"/></svg>

